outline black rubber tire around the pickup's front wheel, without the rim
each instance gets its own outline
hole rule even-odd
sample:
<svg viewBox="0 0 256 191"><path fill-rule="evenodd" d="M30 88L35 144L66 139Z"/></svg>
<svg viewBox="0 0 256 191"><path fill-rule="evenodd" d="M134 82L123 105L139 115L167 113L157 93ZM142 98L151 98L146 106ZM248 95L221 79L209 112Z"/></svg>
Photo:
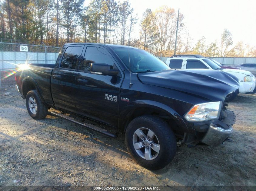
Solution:
<svg viewBox="0 0 256 191"><path fill-rule="evenodd" d="M153 155L155 158L151 160L146 160L142 158L137 151L140 153L143 148L135 150L133 146L135 131L139 128L147 128L154 132L155 137L157 137L157 142L159 143L159 152L156 155ZM144 130L143 130L144 131ZM145 130L146 133L147 130ZM137 135L137 134L136 134ZM136 137L135 135L135 137ZM146 135L146 134L145 134ZM148 136L148 135L147 135ZM138 137L137 137L138 140ZM143 141L138 140L138 142ZM161 118L157 116L139 116L129 123L126 132L125 132L125 143L129 153L132 158L142 167L145 167L149 170L158 170L166 165L168 165L175 156L177 149L177 141L174 133L171 130L171 127ZM135 142L137 143L137 142ZM147 143L142 143L146 145ZM148 144L147 144L148 145ZM145 147L145 146L144 146ZM140 150L140 151L139 151ZM144 150L145 151L145 150ZM152 151L152 148L151 148ZM154 150L152 151L154 152ZM144 155L145 156L145 155Z"/></svg>

